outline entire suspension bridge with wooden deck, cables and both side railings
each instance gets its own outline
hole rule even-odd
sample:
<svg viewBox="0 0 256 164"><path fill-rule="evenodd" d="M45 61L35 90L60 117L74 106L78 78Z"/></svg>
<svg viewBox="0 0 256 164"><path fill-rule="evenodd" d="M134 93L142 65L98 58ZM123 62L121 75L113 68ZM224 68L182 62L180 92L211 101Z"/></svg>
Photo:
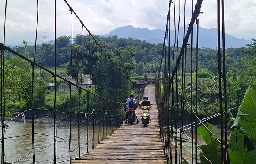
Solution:
<svg viewBox="0 0 256 164"><path fill-rule="evenodd" d="M135 97L135 100L137 103L142 101L143 95L147 95L150 98L150 101L153 104L153 108L150 110L151 114L151 122L148 124L148 127L144 127L141 122L139 124L135 125L129 125L124 124L124 102L117 102L113 101L111 98L106 98L103 95L100 95L99 93L103 93L102 90L99 90L97 87L95 90L89 90L84 89L81 84L79 83L72 83L71 81L68 81L67 79L61 77L60 75L56 74L56 64L55 64L55 71L50 71L40 65L37 62L36 59L36 53L37 53L37 28L36 26L36 35L35 35L35 51L34 51L34 58L29 59L26 56L19 54L18 52L15 52L11 48L5 46L5 24L6 21L8 21L6 15L7 15L7 0L5 2L5 19L4 19L4 40L3 43L0 44L1 49L1 130L2 130L2 136L1 136L1 164L12 164L12 163L24 163L24 159L27 157L31 157L30 161L26 161L26 163L39 163L41 159L38 157L38 154L36 153L39 149L48 149L51 148L50 152L52 152L52 160L47 159L47 163L95 163L95 164L101 164L101 163L148 163L148 164L156 164L156 163L188 163L187 161L190 161L192 164L199 163L197 160L197 157L194 156L197 154L201 154L203 159L206 159L208 163L214 163L211 162L207 157L207 153L202 152L201 149L199 149L197 145L197 133L191 133L191 138L194 138L194 140L191 140L190 147L191 147L191 157L190 159L185 159L182 157L182 152L184 153L184 145L183 140L186 138L187 134L184 133L183 127L183 112L184 112L184 106L189 105L188 101L185 101L184 95L185 95L185 72L188 67L186 67L186 63L188 63L189 58L187 57L187 47L193 47L193 39L191 39L191 43L188 43L189 37L193 38L193 26L196 23L197 24L197 40L196 40L196 50L198 50L198 26L199 26L199 14L202 14L200 12L200 8L202 5L203 0L197 0L196 3L191 4L191 20L188 27L188 30L185 32L185 28L183 31L183 44L178 45L178 36L182 35L179 31L180 27L180 12L181 8L179 7L179 17L178 17L178 24L176 24L176 15L175 15L175 0L169 1L169 10L167 14L167 22L166 22L166 31L165 31L165 37L164 37L164 43L163 43L163 49L162 49L162 59L161 59L161 65L158 73L157 79L155 79L155 85L147 85L146 78L142 80L142 82L134 82L129 78L129 75L122 71L122 69L118 66L117 63L112 59L111 56L106 53L106 49L102 47L102 45L95 39L95 37L91 34L89 29L85 26L85 24L82 22L82 20L79 18L79 14L76 13L72 7L69 5L69 3L64 0L67 6L69 7L69 11L71 13L71 77L72 77L72 57L74 55L73 50L73 26L81 26L82 36L84 36L84 31L88 32L89 35L89 42L85 43L83 39L82 43L82 58L84 59L84 45L88 44L89 51L87 56L92 55L92 49L91 47L95 45L96 47L96 54L97 54L97 69L102 71L104 68L102 67L103 62L110 63L108 66L108 71L113 72L113 75L110 77L105 77L105 81L109 82L109 86L112 86L112 88L119 89L122 91L122 88L118 88L120 86L120 83L127 83L134 84L140 86L140 92ZM174 15L171 14L172 9L171 6L174 4ZM179 1L179 4L181 5L181 1ZM220 36L220 10L222 8L222 34L225 34L224 31L224 2L222 0L222 6L220 7L220 0L218 0L218 55L219 55L219 75L221 74L221 64L223 64L223 78L225 80L225 55L223 55L223 63L221 63L221 36ZM168 6L167 6L168 7ZM195 7L195 8L194 8ZM186 1L184 1L184 9L186 8ZM37 1L37 22L38 23L38 1ZM184 14L185 15L185 14ZM170 35L170 29L171 29L171 17L174 17L174 25L176 28L176 25L178 27L178 34L176 36L176 33L174 36ZM73 19L79 20L80 24L73 24ZM196 25L195 25L196 26ZM184 27L185 27L185 16L184 16ZM171 43L171 38L174 38L175 42ZM225 54L225 38L224 35L222 36L223 44L223 54ZM176 42L177 41L177 42ZM171 50L170 47L174 44L174 48ZM177 48L178 46L181 46L181 48ZM192 88L192 65L193 65L193 48L190 48L190 61L191 61L191 95L193 95L193 91L196 91L195 96L191 96L191 128L193 129L193 124L195 124L195 132L197 132L197 122L199 121L197 117L197 58L198 58L198 51L196 51L196 88ZM20 117L23 113L30 112L31 113L31 132L26 132L23 134L18 134L10 137L5 137L6 133L6 126L8 125L9 121L5 120L5 112L6 112L6 100L5 100L5 51L9 51L12 54L19 56L23 60L26 60L28 63L30 63L32 68L32 88L31 88L31 109L27 109L26 111L20 113L16 117ZM173 52L172 52L173 51ZM56 63L56 1L55 1L55 51L54 51L54 60ZM83 62L85 62L83 60ZM87 61L89 62L89 61ZM73 63L74 64L74 63ZM83 68L84 63L82 63ZM84 66L85 67L85 66ZM42 108L34 108L34 77L35 77L35 69L41 69L46 71L47 73L51 74L54 78L54 108L53 109L42 109ZM83 69L81 69L83 71ZM93 70L92 70L93 71ZM117 74L114 74L114 71L117 72ZM82 79L81 73L81 79ZM57 98L56 94L56 78L59 78L65 82L68 83L69 86L69 102L68 102L68 112L57 110ZM104 78L104 77L102 77ZM99 86L100 84L96 81L94 84ZM219 85L221 84L221 79L219 78ZM131 85L132 86L132 85ZM78 89L78 99L79 103L77 106L77 112L71 112L71 87L76 87ZM225 81L224 81L224 104L225 109L227 109L227 101L226 101L226 88L225 88ZM219 87L219 96L220 96L220 104L222 104L222 87ZM131 89L132 90L132 89ZM86 110L87 112L81 112L81 94L86 93L87 99L86 99ZM118 96L118 93L112 93L115 96ZM193 103L193 99L196 99L196 102ZM92 102L89 106L89 102ZM97 106L99 105L99 107ZM97 108L96 108L97 106ZM195 110L194 108L195 107ZM91 109L90 109L91 108ZM35 122L34 122L34 111L37 110L43 110L43 111L49 111L53 113L54 118L54 130L50 134L43 134L43 133L37 133L35 132ZM140 116L139 110L136 110L136 113L138 116ZM58 128L57 128L57 114L67 114L68 115L68 136L62 137L59 136ZM80 126L80 120L82 116L86 116L86 126L81 127ZM218 140L220 142L220 151L223 153L220 154L220 163L226 164L227 159L227 131L224 132L224 121L223 121L223 108L222 105L220 105L220 116L221 116L221 140ZM15 118L16 118L15 117ZM78 137L72 136L72 130L71 130L71 119L78 120L77 125L77 133ZM195 122L194 122L195 121ZM92 126L92 136L91 139L89 139L89 126ZM187 127L187 126L186 126ZM226 127L227 129L227 122ZM81 131L86 130L86 135L81 136ZM209 129L207 129L209 130ZM210 132L210 130L209 130ZM195 136L193 136L195 135ZM225 135L225 138L224 138ZM18 157L18 160L12 160L8 159L6 157L5 149L8 147L8 145L5 145L5 141L11 140L14 138L24 137L28 136L31 138L31 149L27 152L25 156ZM49 145L45 145L45 147L38 148L36 146L36 143L39 142L35 140L35 136L47 136L50 137L52 140L52 143ZM218 137L218 136L217 136ZM189 137L187 137L189 138ZM186 138L186 139L187 139ZM84 139L82 142L81 140ZM58 152L58 145L61 142L68 142L68 148L67 151L63 154L60 154ZM72 146L72 143L77 143L76 146ZM92 142L91 147L89 142ZM86 152L81 151L83 148L85 148ZM183 150L182 150L183 149ZM83 149L84 150L84 149ZM91 150L91 151L89 151ZM49 149L48 149L49 151ZM74 155L74 152L78 151L78 155ZM200 152L199 152L200 151ZM188 152L185 152L188 153ZM64 156L67 156L68 160L61 160ZM42 158L42 157L41 157ZM201 159L201 161L203 160ZM203 163L202 163L203 164Z"/></svg>

